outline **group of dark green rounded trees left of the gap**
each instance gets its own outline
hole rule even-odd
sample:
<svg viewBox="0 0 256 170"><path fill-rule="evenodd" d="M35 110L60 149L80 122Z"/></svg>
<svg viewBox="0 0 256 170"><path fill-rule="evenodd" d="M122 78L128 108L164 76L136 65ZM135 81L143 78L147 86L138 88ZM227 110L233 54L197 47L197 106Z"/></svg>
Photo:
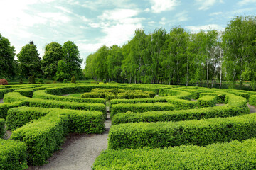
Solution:
<svg viewBox="0 0 256 170"><path fill-rule="evenodd" d="M22 47L14 60L15 50L7 38L0 34L0 78L28 79L38 77L55 79L56 81L70 80L71 77L82 79L80 52L78 46L72 41L64 45L58 42L50 42L45 47L41 59L33 41Z"/></svg>

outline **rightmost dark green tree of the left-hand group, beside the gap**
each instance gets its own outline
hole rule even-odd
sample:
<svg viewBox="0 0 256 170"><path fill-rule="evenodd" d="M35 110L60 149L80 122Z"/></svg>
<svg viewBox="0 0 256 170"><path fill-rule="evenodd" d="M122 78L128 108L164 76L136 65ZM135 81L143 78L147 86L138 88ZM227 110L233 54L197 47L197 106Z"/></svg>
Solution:
<svg viewBox="0 0 256 170"><path fill-rule="evenodd" d="M78 46L73 41L67 41L63 47L63 60L67 63L68 73L75 75L78 79L82 78L80 52Z"/></svg>

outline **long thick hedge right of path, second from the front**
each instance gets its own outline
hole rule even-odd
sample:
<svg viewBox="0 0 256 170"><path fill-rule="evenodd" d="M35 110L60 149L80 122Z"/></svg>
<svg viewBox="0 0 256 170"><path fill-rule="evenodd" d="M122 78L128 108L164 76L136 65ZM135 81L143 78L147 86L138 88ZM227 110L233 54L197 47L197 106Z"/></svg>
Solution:
<svg viewBox="0 0 256 170"><path fill-rule="evenodd" d="M256 137L256 113L168 123L124 123L110 128L110 149L208 145Z"/></svg>

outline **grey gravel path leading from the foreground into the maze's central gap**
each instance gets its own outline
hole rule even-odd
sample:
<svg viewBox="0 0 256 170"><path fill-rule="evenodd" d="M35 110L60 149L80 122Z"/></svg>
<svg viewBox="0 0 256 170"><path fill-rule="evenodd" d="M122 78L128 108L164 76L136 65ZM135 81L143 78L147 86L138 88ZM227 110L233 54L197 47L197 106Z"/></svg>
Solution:
<svg viewBox="0 0 256 170"><path fill-rule="evenodd" d="M110 130L110 108L107 108L106 131L102 134L75 134L66 137L62 150L55 152L48 164L43 166L29 166L29 170L36 169L92 169L92 164L104 149L107 149L107 137Z"/></svg>

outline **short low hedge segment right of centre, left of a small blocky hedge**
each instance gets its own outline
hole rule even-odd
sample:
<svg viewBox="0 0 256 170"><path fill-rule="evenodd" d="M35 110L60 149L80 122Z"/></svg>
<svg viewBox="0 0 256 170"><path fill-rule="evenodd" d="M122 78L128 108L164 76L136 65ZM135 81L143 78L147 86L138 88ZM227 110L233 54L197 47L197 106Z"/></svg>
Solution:
<svg viewBox="0 0 256 170"><path fill-rule="evenodd" d="M198 103L195 101L187 101L179 98L167 98L167 102L174 104L175 110L197 108Z"/></svg>

